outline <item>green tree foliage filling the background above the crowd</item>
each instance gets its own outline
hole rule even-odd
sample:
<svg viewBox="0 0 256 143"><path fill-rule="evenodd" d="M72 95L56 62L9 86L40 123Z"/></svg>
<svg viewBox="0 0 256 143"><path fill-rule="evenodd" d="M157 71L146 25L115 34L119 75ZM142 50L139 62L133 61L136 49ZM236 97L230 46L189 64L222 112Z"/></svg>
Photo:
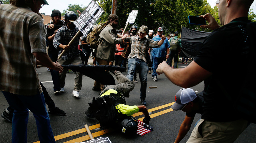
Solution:
<svg viewBox="0 0 256 143"><path fill-rule="evenodd" d="M96 0L104 9L104 13L96 23L104 23L111 14L112 0ZM180 32L181 26L200 31L212 31L203 29L199 25L189 24L188 16L200 16L206 13L211 13L216 21L220 24L218 18L218 8L211 8L207 0L116 0L116 14L119 17L118 29L124 28L126 20L132 10L139 10L135 23L133 25L138 28L141 25L146 25L148 29L154 30L156 33L158 27L164 28L164 34ZM78 8L85 9L84 6L69 5L67 10L76 11ZM66 11L67 11L66 10ZM66 12L65 11L65 12ZM81 10L80 10L81 11ZM65 14L63 12L63 15ZM82 11L81 11L82 12ZM252 10L249 12L249 19L256 20L256 15ZM127 31L131 26L128 24Z"/></svg>

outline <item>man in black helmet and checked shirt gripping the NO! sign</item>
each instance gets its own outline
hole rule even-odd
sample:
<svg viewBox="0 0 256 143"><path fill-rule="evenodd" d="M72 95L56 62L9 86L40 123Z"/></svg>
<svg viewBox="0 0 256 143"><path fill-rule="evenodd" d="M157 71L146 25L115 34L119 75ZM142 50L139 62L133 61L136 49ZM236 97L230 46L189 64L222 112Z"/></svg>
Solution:
<svg viewBox="0 0 256 143"><path fill-rule="evenodd" d="M76 27L76 25L73 23L77 19L77 15L73 11L68 11L65 14L65 25L64 27L61 27L54 39L53 39L53 45L55 48L59 50L58 56L62 53L62 51L65 49L66 52L59 58L59 63L61 65L65 64L82 64L82 60L80 58L80 52L78 50L78 44L79 44L79 39L81 36L83 36L82 33L80 33L74 40L74 42L71 45L68 45L69 42L72 40L72 38L77 34L79 29ZM61 92L64 92L64 86L65 86L65 78L68 68L64 68L63 72L60 73L60 87L61 87ZM76 76L74 78L75 80L75 86L73 90L73 95L77 98L79 98L79 91L82 88L82 74L79 72L75 73Z"/></svg>

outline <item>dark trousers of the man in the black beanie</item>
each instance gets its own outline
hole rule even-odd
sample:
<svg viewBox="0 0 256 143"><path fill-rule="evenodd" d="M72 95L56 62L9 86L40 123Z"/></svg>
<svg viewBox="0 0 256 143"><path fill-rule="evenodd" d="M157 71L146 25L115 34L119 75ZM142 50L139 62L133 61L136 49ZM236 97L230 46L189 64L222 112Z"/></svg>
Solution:
<svg viewBox="0 0 256 143"><path fill-rule="evenodd" d="M49 57L51 58L51 60L53 62L57 61L57 59L55 60L55 58L56 58L55 55L51 55L51 54L48 54L48 55L49 55ZM54 90L54 92L59 91L60 90L59 71L50 70L50 72L51 72L51 79L52 79L52 82L53 82L53 90Z"/></svg>

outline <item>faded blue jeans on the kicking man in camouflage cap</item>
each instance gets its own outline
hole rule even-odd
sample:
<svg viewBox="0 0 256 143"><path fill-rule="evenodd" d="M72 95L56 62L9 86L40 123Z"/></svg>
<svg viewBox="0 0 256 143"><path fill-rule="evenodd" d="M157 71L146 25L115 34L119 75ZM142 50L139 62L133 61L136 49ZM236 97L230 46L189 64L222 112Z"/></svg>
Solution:
<svg viewBox="0 0 256 143"><path fill-rule="evenodd" d="M140 60L138 58L129 58L128 72L126 77L130 79L130 81L133 81L135 70L139 71L139 77L141 80L141 99L145 99L147 90L148 65L146 62L144 62L144 60Z"/></svg>

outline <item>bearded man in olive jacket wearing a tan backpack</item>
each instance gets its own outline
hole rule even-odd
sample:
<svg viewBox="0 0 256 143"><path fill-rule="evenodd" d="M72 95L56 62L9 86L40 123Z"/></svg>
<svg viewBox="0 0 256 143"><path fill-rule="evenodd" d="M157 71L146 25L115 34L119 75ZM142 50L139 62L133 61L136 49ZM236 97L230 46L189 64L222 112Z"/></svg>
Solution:
<svg viewBox="0 0 256 143"><path fill-rule="evenodd" d="M110 61L114 61L114 54L117 52L116 44L120 44L128 34L123 36L118 34L115 28L118 25L118 16L115 14L110 14L108 16L108 21L105 23L107 25L102 29L99 35L99 45L95 50L96 60L100 65L109 65ZM94 81L94 86L92 90L103 90L104 85Z"/></svg>

